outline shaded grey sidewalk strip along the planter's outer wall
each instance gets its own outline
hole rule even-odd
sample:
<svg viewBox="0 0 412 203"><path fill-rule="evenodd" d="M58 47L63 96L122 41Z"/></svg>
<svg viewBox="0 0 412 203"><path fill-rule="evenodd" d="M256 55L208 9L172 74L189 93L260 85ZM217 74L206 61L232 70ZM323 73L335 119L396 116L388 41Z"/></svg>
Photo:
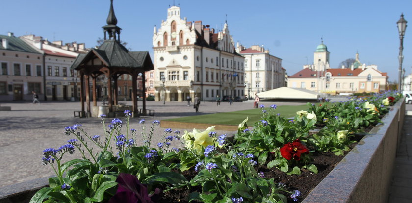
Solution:
<svg viewBox="0 0 412 203"><path fill-rule="evenodd" d="M388 203L412 203L412 116L405 115Z"/></svg>

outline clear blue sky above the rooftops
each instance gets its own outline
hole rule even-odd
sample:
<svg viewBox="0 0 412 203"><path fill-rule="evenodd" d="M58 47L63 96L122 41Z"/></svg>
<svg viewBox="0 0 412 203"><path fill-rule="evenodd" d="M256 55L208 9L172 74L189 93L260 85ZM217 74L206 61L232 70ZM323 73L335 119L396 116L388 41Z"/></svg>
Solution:
<svg viewBox="0 0 412 203"><path fill-rule="evenodd" d="M404 39L406 74L412 66L411 0L175 0L181 17L204 25L228 25L235 42L264 45L282 58L288 75L313 62L323 36L330 65L355 58L376 64L389 81L398 78L399 35L396 22L403 12L409 27ZM49 41L77 41L86 47L103 37L110 0L2 0L0 34L35 34ZM153 60L153 27L167 17L173 0L114 0L121 39L132 51L149 51Z"/></svg>

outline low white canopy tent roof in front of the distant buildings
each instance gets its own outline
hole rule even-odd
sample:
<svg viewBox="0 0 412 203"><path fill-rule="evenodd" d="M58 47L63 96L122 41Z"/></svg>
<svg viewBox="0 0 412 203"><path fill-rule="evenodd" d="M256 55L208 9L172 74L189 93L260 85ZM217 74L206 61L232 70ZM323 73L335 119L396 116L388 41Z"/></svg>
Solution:
<svg viewBox="0 0 412 203"><path fill-rule="evenodd" d="M301 100L317 100L319 94L317 92L303 89L280 87L273 90L258 93L259 98L265 99L301 99Z"/></svg>

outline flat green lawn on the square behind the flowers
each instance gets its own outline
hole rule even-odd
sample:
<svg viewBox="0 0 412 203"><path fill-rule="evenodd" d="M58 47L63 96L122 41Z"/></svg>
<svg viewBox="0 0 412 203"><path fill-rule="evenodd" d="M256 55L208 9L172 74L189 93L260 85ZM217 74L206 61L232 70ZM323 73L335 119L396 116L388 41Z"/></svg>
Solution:
<svg viewBox="0 0 412 203"><path fill-rule="evenodd" d="M296 111L307 110L307 109L308 109L307 105L298 105L298 106L283 105L283 106L278 106L275 110L275 113L280 113L281 116L290 118L290 117L295 116ZM265 110L269 111L269 108L265 108ZM214 113L214 114L206 114L206 115L199 115L199 116L187 116L187 117L180 117L180 118L174 118L174 119L166 119L165 121L179 121L179 122L187 122L187 123L204 123L204 124L220 124L220 125L238 125L243 120L245 120L246 117L249 117L248 124L252 125L255 122L261 120L262 109L254 108L254 109L243 110L243 111Z"/></svg>

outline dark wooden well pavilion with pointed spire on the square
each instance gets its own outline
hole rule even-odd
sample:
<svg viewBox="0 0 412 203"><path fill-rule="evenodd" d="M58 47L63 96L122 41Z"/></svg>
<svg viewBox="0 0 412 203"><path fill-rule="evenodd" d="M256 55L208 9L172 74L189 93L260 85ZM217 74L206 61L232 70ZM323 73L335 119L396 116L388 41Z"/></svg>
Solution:
<svg viewBox="0 0 412 203"><path fill-rule="evenodd" d="M107 25L103 26L104 41L97 49L91 49L87 53L79 54L72 64L71 69L77 70L80 74L80 103L82 117L91 117L90 111L90 78L93 84L93 105L97 105L96 101L96 78L102 74L108 78L108 105L109 114L113 112L113 104L117 105L117 79L122 74L132 76L132 101L133 116L138 115L137 108L137 76L142 74L143 81L143 114L146 114L146 87L145 71L153 70L153 63L150 59L148 51L129 51L120 43L120 30L116 26L117 19L114 15L113 0L110 0L110 11L107 17ZM106 38L108 34L108 38ZM116 38L117 35L117 38ZM113 85L112 85L113 81ZM86 86L86 88L85 88ZM85 92L84 92L85 91ZM86 96L87 111L84 109L84 96Z"/></svg>

